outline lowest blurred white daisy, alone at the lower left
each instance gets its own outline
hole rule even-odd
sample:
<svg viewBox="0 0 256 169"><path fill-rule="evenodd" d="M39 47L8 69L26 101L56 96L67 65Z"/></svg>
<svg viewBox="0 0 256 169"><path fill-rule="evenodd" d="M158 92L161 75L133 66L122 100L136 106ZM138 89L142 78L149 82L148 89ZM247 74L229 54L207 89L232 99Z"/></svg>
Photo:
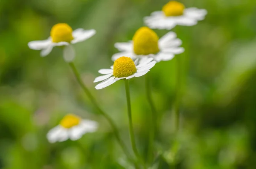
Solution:
<svg viewBox="0 0 256 169"><path fill-rule="evenodd" d="M47 139L50 143L66 141L69 138L70 140L79 140L82 135L95 132L97 128L97 122L69 114L63 117L58 126L47 133Z"/></svg>

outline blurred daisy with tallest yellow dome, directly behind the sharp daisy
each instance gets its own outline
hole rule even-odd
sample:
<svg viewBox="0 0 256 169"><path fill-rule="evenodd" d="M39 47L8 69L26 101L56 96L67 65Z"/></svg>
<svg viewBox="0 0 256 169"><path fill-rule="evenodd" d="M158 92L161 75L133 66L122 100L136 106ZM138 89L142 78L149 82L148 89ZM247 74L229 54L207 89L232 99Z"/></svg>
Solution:
<svg viewBox="0 0 256 169"><path fill-rule="evenodd" d="M112 60L122 56L129 56L132 59L153 57L157 62L171 60L175 54L184 52L180 47L182 41L176 37L174 32L168 32L159 39L153 30L145 26L141 27L135 32L132 41L115 43L120 53L114 54Z"/></svg>

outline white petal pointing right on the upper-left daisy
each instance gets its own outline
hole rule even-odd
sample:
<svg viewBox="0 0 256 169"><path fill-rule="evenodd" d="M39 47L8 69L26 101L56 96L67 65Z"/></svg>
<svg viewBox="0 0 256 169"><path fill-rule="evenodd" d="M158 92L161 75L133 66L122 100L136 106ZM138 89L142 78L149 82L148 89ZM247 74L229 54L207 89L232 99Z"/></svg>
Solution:
<svg viewBox="0 0 256 169"><path fill-rule="evenodd" d="M78 42L82 42L84 40L89 39L90 37L92 37L94 34L96 34L96 30L94 29L90 29L90 30L75 30L73 32L73 37L74 40L71 41L71 43L78 43Z"/></svg>

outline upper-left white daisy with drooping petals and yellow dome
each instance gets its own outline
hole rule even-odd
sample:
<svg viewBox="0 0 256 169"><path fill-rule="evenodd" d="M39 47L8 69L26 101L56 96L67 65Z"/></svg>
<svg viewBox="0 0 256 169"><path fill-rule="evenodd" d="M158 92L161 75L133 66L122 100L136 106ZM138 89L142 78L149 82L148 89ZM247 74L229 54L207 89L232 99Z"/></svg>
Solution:
<svg viewBox="0 0 256 169"><path fill-rule="evenodd" d="M75 51L70 44L82 42L96 34L94 29L82 28L72 30L66 23L58 23L52 26L50 37L47 40L36 40L28 43L30 49L41 50L41 56L47 56L54 46L65 46L63 57L66 62L73 61Z"/></svg>

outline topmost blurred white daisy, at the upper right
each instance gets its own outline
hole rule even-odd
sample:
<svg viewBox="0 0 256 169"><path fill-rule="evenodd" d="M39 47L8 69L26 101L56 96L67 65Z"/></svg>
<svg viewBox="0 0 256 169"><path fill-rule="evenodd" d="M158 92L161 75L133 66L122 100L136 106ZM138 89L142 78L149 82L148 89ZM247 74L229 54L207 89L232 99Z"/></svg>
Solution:
<svg viewBox="0 0 256 169"><path fill-rule="evenodd" d="M154 11L151 16L145 17L145 24L152 29L170 30L176 25L194 26L198 20L204 20L207 10L186 8L182 3L170 1L163 6L162 11Z"/></svg>

